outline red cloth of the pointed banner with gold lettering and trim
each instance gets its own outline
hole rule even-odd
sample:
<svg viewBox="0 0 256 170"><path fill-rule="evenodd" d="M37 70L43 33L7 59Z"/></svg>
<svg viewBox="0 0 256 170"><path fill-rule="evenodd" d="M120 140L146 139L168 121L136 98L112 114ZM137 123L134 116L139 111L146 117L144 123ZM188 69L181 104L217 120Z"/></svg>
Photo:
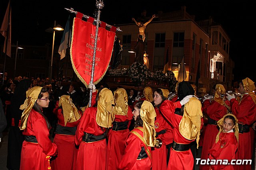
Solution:
<svg viewBox="0 0 256 170"><path fill-rule="evenodd" d="M104 24L102 24L104 25ZM96 26L74 18L70 57L73 69L86 87L91 80ZM115 32L98 28L93 83L97 84L105 75L115 40Z"/></svg>

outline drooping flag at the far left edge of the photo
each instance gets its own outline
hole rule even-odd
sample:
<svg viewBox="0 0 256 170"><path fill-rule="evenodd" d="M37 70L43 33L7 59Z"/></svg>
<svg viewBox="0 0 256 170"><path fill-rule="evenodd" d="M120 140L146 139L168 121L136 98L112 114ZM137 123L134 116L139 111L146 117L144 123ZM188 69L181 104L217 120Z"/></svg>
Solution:
<svg viewBox="0 0 256 170"><path fill-rule="evenodd" d="M2 22L2 26L0 28L0 33L2 36L5 37L4 40L4 53L11 57L11 48L12 48L12 43L11 43L11 7L10 7L10 1L8 3L8 7L6 9L5 15L4 15L4 20ZM7 41L6 41L7 39ZM6 50L6 42L7 42L7 50ZM5 50L7 52L5 52Z"/></svg>

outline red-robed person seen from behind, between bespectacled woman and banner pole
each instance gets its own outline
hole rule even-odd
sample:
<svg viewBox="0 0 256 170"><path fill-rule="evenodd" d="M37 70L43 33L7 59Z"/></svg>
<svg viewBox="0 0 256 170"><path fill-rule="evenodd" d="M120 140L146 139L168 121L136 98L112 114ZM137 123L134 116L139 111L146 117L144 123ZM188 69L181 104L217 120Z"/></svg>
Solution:
<svg viewBox="0 0 256 170"><path fill-rule="evenodd" d="M53 141L58 148L58 156L51 162L52 170L75 170L77 148L74 136L81 113L69 95L60 97L53 113L58 118Z"/></svg>

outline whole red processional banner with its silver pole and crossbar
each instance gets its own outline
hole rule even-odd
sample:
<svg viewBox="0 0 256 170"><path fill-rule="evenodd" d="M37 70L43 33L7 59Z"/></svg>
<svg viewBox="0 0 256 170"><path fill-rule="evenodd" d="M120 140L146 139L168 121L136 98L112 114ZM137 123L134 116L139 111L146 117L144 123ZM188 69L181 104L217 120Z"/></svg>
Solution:
<svg viewBox="0 0 256 170"><path fill-rule="evenodd" d="M110 63L116 31L122 31L100 21L100 10L104 7L103 0L96 0L96 7L96 19L72 8L65 8L68 12L76 14L73 21L70 59L74 72L87 88L89 83L97 84L104 77ZM86 18L87 21L83 21L82 18ZM92 89L90 89L89 107L91 101Z"/></svg>

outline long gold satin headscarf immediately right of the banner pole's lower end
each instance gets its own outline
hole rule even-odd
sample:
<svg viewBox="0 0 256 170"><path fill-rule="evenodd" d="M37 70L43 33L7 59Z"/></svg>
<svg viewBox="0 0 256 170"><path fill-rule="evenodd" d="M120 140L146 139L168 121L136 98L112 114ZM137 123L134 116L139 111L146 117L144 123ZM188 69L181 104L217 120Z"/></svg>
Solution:
<svg viewBox="0 0 256 170"><path fill-rule="evenodd" d="M98 96L98 106L96 114L96 123L100 127L112 127L112 122L115 119L112 104L114 105L114 97L112 91L108 88L102 89Z"/></svg>

